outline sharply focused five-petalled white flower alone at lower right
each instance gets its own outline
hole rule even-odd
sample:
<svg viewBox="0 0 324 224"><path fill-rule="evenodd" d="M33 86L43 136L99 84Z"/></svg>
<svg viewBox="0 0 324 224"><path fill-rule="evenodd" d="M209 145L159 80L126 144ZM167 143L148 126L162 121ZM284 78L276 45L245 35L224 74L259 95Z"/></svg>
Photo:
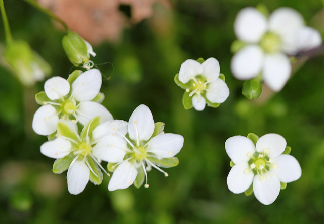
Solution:
<svg viewBox="0 0 324 224"><path fill-rule="evenodd" d="M301 176L295 157L282 154L286 140L278 134L266 134L254 143L247 137L234 136L226 140L225 149L235 163L227 177L228 189L239 194L253 183L255 197L269 205L278 197L280 182L289 183Z"/></svg>

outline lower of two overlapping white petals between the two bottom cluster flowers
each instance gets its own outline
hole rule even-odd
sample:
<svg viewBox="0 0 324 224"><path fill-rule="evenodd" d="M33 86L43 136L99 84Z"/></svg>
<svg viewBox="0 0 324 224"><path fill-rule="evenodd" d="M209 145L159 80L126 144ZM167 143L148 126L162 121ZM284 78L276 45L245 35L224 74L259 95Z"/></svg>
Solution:
<svg viewBox="0 0 324 224"><path fill-rule="evenodd" d="M118 136L102 138L92 149L93 155L103 161L119 163L126 155L127 142Z"/></svg>

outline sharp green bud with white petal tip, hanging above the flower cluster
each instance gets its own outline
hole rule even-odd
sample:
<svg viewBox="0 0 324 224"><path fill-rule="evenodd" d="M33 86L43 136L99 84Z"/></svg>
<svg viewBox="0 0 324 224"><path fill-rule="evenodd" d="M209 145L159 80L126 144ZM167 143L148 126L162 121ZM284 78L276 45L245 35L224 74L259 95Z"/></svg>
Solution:
<svg viewBox="0 0 324 224"><path fill-rule="evenodd" d="M96 56L92 46L81 38L76 32L68 32L62 39L64 51L74 66L89 61L90 54Z"/></svg>

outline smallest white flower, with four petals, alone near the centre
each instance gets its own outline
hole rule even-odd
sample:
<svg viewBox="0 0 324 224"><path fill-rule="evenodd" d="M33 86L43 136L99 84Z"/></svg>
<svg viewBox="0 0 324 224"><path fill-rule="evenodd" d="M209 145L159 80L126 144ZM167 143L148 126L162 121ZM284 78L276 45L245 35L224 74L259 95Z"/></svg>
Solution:
<svg viewBox="0 0 324 224"><path fill-rule="evenodd" d="M219 78L219 62L215 58L208 58L202 64L188 59L181 64L179 81L186 84L192 81L191 87L186 88L192 105L196 110L203 110L206 100L211 103L223 103L229 96L226 83Z"/></svg>

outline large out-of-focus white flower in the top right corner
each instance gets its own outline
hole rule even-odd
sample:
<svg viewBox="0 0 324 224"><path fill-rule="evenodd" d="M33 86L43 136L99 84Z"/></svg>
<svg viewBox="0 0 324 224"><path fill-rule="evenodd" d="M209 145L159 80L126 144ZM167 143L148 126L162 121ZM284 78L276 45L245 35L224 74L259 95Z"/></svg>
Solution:
<svg viewBox="0 0 324 224"><path fill-rule="evenodd" d="M237 38L247 43L231 61L233 75L249 80L262 73L264 82L280 91L291 74L288 55L321 45L320 33L304 25L303 17L294 9L279 8L267 19L260 11L242 9L234 22Z"/></svg>

